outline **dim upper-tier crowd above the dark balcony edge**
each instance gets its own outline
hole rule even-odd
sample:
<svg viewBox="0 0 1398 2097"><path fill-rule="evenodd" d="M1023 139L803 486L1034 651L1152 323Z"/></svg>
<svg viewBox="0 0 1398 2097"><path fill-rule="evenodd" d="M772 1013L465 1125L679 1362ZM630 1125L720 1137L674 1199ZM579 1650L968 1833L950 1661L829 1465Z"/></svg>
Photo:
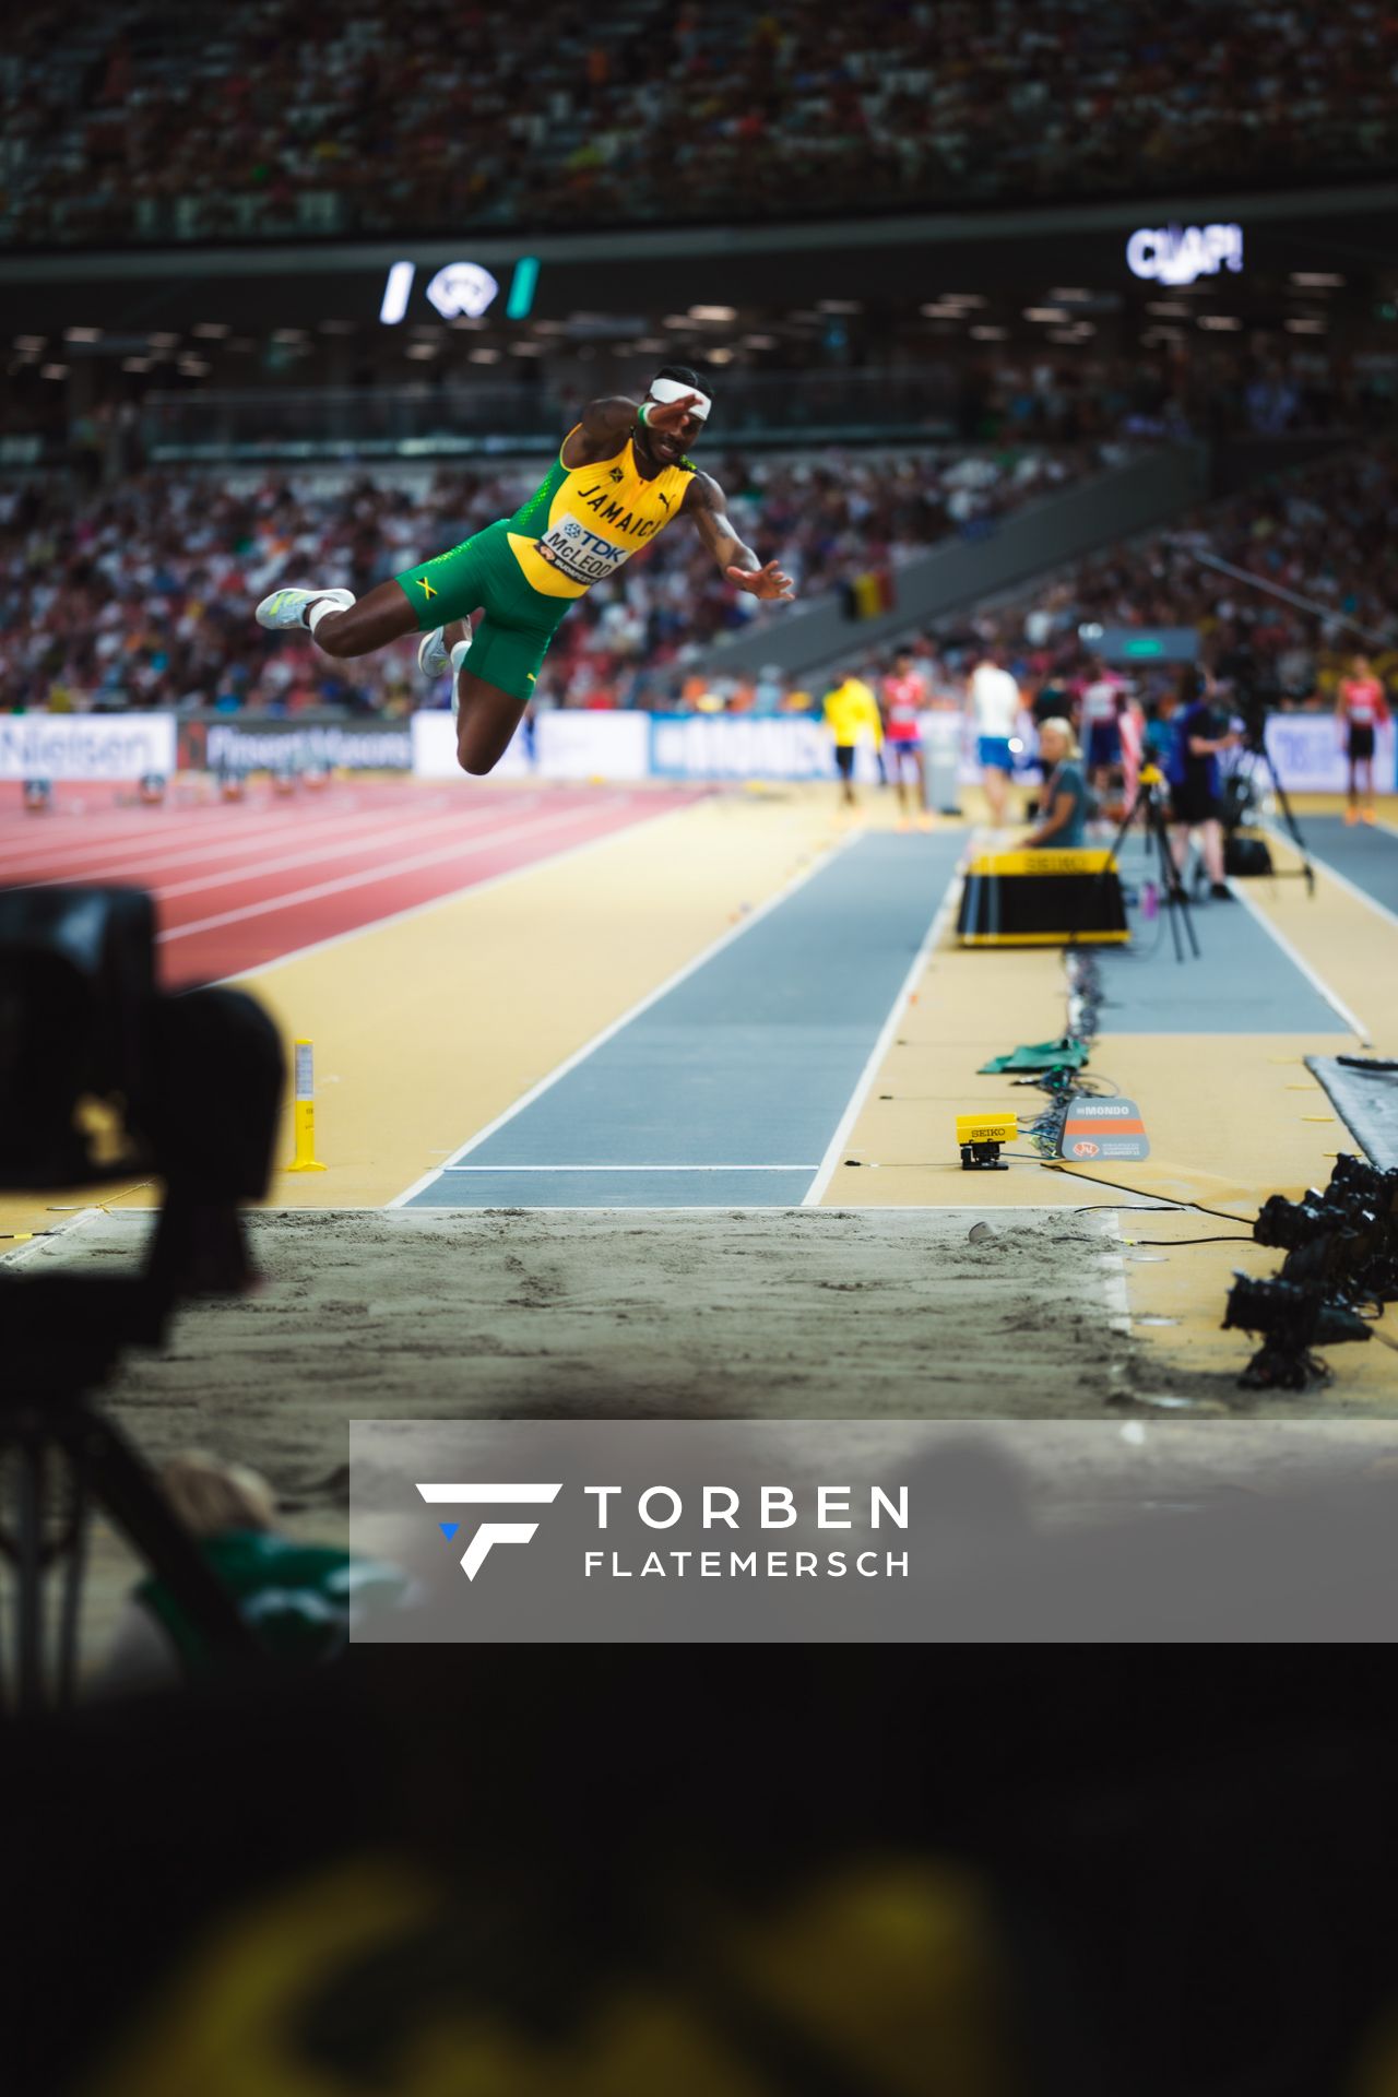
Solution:
<svg viewBox="0 0 1398 2097"><path fill-rule="evenodd" d="M1398 159L1398 15L1289 0L29 0L0 243L570 226L1297 182Z"/></svg>

